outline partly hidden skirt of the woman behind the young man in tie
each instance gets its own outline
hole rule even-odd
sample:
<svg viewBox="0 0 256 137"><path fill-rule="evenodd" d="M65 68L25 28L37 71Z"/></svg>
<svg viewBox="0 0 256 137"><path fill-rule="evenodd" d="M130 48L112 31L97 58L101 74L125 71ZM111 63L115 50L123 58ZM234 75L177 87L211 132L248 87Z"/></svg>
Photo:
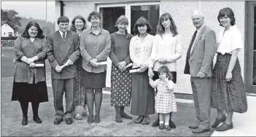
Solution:
<svg viewBox="0 0 256 137"><path fill-rule="evenodd" d="M76 85L74 87L74 104L75 106L84 106L86 104L85 98L85 87L81 85L82 81L82 59L79 58L77 61L77 77Z"/></svg>

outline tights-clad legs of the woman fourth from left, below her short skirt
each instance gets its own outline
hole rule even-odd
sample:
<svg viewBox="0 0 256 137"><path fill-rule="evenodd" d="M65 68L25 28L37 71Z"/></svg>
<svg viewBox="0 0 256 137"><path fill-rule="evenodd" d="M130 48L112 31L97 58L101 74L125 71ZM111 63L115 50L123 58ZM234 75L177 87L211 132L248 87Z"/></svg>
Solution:
<svg viewBox="0 0 256 137"><path fill-rule="evenodd" d="M95 93L94 93L95 90ZM102 102L102 88L86 89L86 103L89 110L89 115L93 116L93 103L95 102L96 115L100 114Z"/></svg>

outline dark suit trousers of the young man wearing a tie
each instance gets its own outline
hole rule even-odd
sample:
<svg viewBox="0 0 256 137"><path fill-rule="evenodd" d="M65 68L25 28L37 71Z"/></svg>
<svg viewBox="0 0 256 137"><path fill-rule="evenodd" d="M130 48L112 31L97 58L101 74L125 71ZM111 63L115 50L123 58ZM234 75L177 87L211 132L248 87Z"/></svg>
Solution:
<svg viewBox="0 0 256 137"><path fill-rule="evenodd" d="M52 79L55 118L72 118L74 111L75 79ZM65 91L66 111L63 110L63 93Z"/></svg>

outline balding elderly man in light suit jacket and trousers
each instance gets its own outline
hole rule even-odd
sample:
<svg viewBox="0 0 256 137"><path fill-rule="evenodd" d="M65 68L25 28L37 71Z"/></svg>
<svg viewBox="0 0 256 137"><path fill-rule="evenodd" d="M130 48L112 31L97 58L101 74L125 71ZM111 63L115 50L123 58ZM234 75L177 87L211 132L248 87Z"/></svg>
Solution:
<svg viewBox="0 0 256 137"><path fill-rule="evenodd" d="M200 11L192 14L196 28L187 50L185 74L190 74L195 104L195 125L190 125L193 133L203 133L210 129L212 68L215 54L216 36L214 31L203 23Z"/></svg>

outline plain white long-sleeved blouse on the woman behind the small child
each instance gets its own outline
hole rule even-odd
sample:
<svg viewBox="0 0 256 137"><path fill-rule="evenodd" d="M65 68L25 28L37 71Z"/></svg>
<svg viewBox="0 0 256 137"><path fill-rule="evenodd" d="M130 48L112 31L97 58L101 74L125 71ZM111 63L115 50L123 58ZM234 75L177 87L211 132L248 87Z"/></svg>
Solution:
<svg viewBox="0 0 256 137"><path fill-rule="evenodd" d="M182 57L181 41L180 35L163 34L163 38L159 34L155 35L149 67L153 67L153 71L158 71L161 66L167 66L169 71L177 71L176 60ZM167 63L159 63L160 58L166 58Z"/></svg>

